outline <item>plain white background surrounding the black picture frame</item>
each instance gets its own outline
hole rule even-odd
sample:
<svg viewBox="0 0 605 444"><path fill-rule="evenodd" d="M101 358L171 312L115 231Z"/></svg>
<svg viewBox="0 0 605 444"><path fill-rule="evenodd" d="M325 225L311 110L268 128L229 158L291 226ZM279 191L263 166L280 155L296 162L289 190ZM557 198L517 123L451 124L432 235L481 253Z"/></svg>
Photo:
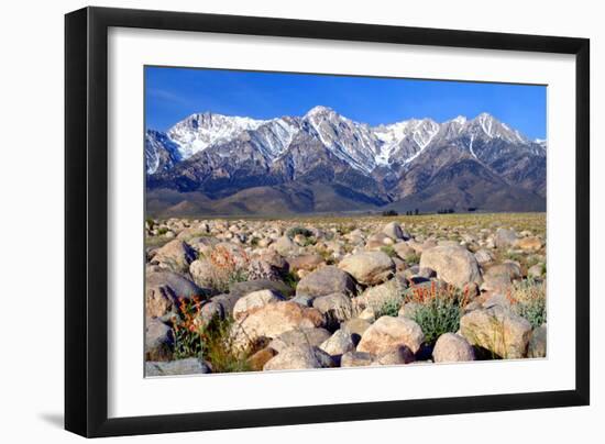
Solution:
<svg viewBox="0 0 605 444"><path fill-rule="evenodd" d="M63 14L86 5L56 2L4 2L0 26L1 165L0 434L6 442L46 443L77 440L63 423ZM99 1L97 5L369 22L476 31L590 37L592 43L592 281L605 265L605 163L603 103L605 29L600 3L485 0L353 3L329 0ZM572 233L570 233L572 235ZM570 257L570 265L573 258ZM586 270L587 273L587 270ZM585 278L579 276L580 279ZM593 285L593 288L595 286ZM572 303L573 289L569 289ZM605 302L593 291L592 313ZM465 414L305 426L252 429L121 439L128 442L237 441L302 443L376 439L479 443L571 441L601 431L605 415L605 324L592 317L592 406L587 408ZM570 356L570 358L572 358Z"/></svg>

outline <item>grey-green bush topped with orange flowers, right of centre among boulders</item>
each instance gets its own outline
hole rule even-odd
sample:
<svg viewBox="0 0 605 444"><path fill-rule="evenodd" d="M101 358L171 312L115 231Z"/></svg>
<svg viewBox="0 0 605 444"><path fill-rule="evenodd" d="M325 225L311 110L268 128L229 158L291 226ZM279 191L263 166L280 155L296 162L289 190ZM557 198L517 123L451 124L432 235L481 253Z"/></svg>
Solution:
<svg viewBox="0 0 605 444"><path fill-rule="evenodd" d="M469 302L468 291L461 291L451 285L414 287L406 298L418 303L413 319L420 325L428 344L435 344L444 333L455 333L460 328L462 310Z"/></svg>

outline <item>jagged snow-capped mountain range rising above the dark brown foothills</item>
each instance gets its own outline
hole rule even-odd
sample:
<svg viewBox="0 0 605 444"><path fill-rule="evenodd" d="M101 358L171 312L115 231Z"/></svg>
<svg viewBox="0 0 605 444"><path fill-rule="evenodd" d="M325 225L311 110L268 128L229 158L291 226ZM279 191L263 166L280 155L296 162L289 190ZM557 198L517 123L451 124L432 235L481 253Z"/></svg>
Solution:
<svg viewBox="0 0 605 444"><path fill-rule="evenodd" d="M145 155L150 189L211 199L257 187L322 184L355 202L384 206L431 187L439 196L455 187L451 199L446 192L435 204L485 204L493 189L513 209L534 209L546 193L546 141L530 141L487 113L371 126L321 106L271 120L205 112L166 133L147 131ZM477 193L484 196L479 203Z"/></svg>

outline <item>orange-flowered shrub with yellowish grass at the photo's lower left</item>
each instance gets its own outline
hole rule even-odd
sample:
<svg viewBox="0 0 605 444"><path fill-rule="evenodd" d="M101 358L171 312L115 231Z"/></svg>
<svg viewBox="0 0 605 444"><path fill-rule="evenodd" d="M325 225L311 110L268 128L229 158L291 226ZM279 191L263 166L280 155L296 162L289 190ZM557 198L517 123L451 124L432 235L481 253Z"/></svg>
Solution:
<svg viewBox="0 0 605 444"><path fill-rule="evenodd" d="M215 373L249 371L248 358L252 349L238 349L232 346L232 318L212 318L205 322L200 315L201 300L182 299L179 315L173 318L175 338L174 357L183 359L197 357L205 359Z"/></svg>

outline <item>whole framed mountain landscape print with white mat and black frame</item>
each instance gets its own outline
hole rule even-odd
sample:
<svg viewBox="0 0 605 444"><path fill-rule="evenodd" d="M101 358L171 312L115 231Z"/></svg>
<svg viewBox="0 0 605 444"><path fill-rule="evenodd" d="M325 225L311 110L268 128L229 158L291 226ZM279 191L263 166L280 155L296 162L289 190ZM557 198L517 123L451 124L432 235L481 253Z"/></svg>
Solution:
<svg viewBox="0 0 605 444"><path fill-rule="evenodd" d="M65 30L67 430L588 404L587 40Z"/></svg>

